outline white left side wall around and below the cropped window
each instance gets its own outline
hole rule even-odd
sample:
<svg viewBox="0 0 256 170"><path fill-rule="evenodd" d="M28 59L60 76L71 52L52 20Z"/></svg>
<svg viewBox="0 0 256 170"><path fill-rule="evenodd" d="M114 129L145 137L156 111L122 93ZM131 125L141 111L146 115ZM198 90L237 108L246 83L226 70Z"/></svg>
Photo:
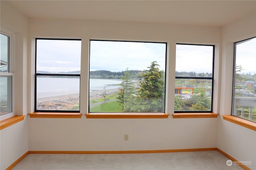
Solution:
<svg viewBox="0 0 256 170"><path fill-rule="evenodd" d="M8 30L15 35L14 57L14 104L16 115L27 111L27 51L28 19L1 1L1 31ZM28 117L0 131L0 169L4 170L28 151Z"/></svg>

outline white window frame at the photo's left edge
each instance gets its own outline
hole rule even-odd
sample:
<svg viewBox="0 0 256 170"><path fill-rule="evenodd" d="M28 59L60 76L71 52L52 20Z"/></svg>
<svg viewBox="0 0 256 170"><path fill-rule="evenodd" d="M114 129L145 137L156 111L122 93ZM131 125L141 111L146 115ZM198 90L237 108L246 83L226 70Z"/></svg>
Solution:
<svg viewBox="0 0 256 170"><path fill-rule="evenodd" d="M2 35L5 35L8 38L8 70L7 72L0 72L0 76L10 76L11 80L8 80L8 82L11 82L10 84L10 94L8 92L8 96L11 96L11 109L12 111L10 113L6 113L5 115L0 116L0 119L8 119L10 117L15 116L15 74L14 74L14 42L15 42L15 34L8 29L1 28L0 33ZM9 100L9 99L8 99Z"/></svg>

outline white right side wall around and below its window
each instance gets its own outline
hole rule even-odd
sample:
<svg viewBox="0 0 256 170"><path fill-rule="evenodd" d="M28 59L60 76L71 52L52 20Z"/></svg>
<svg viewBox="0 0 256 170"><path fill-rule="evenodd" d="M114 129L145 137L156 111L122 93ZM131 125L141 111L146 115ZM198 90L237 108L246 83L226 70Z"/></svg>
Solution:
<svg viewBox="0 0 256 170"><path fill-rule="evenodd" d="M256 36L256 13L230 23L222 28L222 58L220 80L220 114L232 112L232 78L234 43ZM256 131L218 118L217 147L239 161L252 161L246 165L256 169Z"/></svg>

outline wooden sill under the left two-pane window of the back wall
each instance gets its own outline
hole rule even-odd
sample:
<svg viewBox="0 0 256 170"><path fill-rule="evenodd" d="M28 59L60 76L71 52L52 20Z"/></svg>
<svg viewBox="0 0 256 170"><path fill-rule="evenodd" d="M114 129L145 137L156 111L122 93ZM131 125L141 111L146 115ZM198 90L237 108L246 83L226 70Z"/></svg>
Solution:
<svg viewBox="0 0 256 170"><path fill-rule="evenodd" d="M81 113L63 112L34 112L28 114L30 118L81 118Z"/></svg>

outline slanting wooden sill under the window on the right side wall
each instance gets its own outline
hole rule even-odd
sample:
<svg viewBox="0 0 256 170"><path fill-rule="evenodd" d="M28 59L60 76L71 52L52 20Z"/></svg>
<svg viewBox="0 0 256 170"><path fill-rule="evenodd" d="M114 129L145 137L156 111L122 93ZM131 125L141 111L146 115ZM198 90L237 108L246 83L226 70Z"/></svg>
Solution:
<svg viewBox="0 0 256 170"><path fill-rule="evenodd" d="M222 115L223 119L256 131L256 123L232 115Z"/></svg>

